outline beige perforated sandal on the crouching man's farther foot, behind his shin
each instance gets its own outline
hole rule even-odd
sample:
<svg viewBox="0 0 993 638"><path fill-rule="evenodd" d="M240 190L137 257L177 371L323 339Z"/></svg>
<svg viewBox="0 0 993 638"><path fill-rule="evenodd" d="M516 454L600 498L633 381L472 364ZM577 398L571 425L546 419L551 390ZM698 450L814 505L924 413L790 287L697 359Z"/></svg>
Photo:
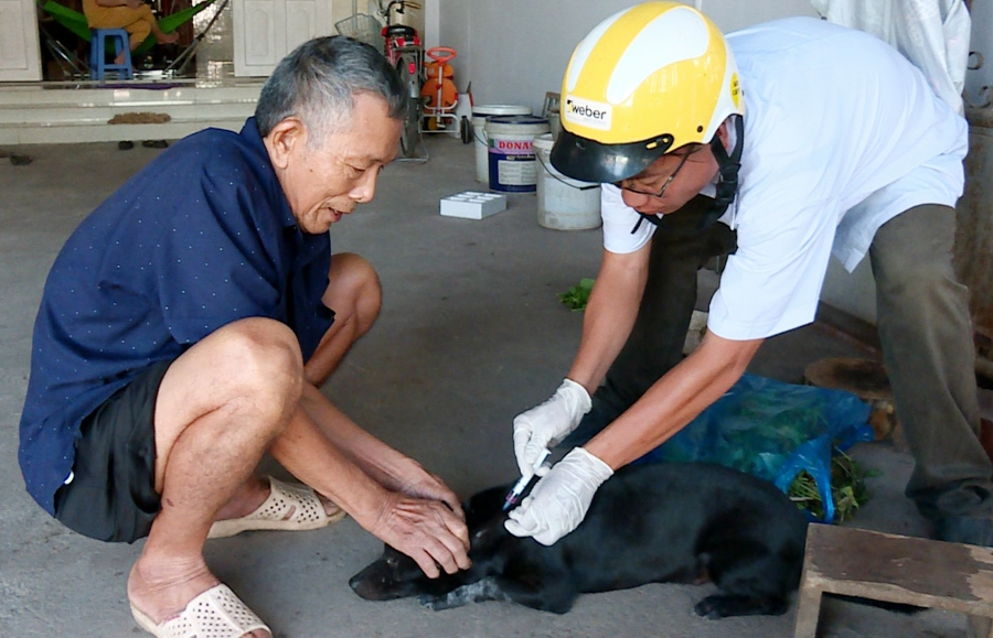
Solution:
<svg viewBox="0 0 993 638"><path fill-rule="evenodd" d="M317 493L306 485L290 485L269 479L269 497L258 509L241 518L215 521L207 534L209 539L223 539L249 530L303 531L328 527L344 518L345 512L337 508L330 515Z"/></svg>

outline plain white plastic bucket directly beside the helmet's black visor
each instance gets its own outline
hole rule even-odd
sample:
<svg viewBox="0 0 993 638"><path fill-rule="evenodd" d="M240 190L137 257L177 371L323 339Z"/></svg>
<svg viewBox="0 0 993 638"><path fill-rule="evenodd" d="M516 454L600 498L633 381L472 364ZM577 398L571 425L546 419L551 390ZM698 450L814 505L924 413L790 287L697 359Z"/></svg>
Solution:
<svg viewBox="0 0 993 638"><path fill-rule="evenodd" d="M552 165L552 133L534 139L542 165L537 183L538 225L555 230L586 230L600 225L600 185L566 177Z"/></svg>

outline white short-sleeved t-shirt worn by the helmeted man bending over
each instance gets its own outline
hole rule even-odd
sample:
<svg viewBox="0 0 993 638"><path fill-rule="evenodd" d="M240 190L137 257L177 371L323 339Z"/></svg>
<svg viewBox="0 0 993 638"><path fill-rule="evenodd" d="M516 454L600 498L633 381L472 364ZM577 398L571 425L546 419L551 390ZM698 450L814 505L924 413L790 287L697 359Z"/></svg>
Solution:
<svg viewBox="0 0 993 638"><path fill-rule="evenodd" d="M769 337L813 321L833 252L854 270L876 230L962 194L968 127L893 47L866 33L789 18L728 35L745 96L737 230L707 327ZM604 246L633 252L655 231L620 191L601 192Z"/></svg>

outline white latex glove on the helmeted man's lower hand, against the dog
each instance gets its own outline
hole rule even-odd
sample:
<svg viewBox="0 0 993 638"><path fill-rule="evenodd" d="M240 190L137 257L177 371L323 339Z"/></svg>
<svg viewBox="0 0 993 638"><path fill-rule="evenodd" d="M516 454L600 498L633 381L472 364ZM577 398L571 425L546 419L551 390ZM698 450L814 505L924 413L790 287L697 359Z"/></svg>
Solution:
<svg viewBox="0 0 993 638"><path fill-rule="evenodd" d="M609 465L584 447L574 447L511 510L503 525L515 537L534 537L543 545L554 544L579 527L594 494L612 475Z"/></svg>

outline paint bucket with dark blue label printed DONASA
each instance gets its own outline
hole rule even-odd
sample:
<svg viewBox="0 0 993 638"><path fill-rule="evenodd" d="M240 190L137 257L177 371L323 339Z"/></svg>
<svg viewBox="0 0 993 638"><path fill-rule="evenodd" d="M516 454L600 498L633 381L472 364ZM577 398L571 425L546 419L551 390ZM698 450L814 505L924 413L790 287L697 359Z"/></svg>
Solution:
<svg viewBox="0 0 993 638"><path fill-rule="evenodd" d="M535 116L487 118L490 190L504 193L534 193L537 187L532 142L551 130L548 120Z"/></svg>

